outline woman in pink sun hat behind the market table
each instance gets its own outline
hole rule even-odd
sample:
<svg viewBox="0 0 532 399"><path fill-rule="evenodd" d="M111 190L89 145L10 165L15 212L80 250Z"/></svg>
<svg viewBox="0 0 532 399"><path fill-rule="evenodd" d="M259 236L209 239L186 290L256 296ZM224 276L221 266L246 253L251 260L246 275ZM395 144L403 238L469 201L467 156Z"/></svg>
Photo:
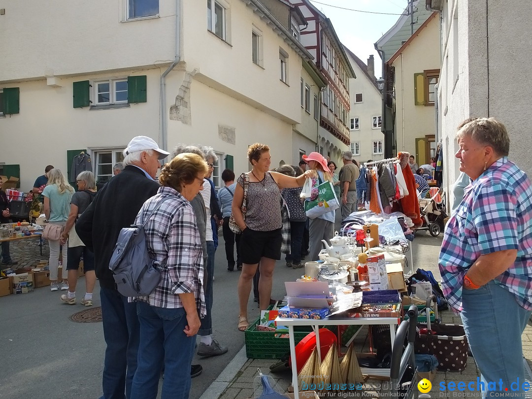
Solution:
<svg viewBox="0 0 532 399"><path fill-rule="evenodd" d="M318 173L317 178L312 178L312 195L307 201L315 200L318 195L318 186L325 182L332 183L332 173L327 166L327 160L323 155L317 152L311 152L309 155L303 155L303 160L309 164L309 170ZM335 212L327 212L321 216L310 219L309 221L309 251L310 260L317 261L318 254L321 251L321 240L326 240L330 245L329 239L334 235Z"/></svg>

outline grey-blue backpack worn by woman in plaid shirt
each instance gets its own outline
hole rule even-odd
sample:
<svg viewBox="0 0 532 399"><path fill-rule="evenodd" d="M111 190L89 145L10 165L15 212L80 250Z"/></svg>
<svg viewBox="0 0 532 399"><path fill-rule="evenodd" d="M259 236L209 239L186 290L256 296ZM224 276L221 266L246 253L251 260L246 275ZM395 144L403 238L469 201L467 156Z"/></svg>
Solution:
<svg viewBox="0 0 532 399"><path fill-rule="evenodd" d="M165 267L166 261L158 268L155 267L155 261L148 254L144 226L167 199L164 198L155 205L146 221L142 219L138 225L120 230L109 269L113 272L118 292L123 296L149 295L161 281L161 270Z"/></svg>

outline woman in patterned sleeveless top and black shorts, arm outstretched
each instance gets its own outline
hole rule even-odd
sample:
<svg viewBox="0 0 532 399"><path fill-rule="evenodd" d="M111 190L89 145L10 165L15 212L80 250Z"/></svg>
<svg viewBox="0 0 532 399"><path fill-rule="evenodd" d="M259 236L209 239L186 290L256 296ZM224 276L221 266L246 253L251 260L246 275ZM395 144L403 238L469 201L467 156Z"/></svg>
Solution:
<svg viewBox="0 0 532 399"><path fill-rule="evenodd" d="M281 259L281 200L280 189L303 186L307 177L315 172L306 171L299 177L290 177L277 172L269 172L271 164L270 148L255 143L247 149L247 157L253 165L250 172L242 173L237 180L232 213L235 222L242 230L240 257L242 273L238 280L238 329L248 327L247 303L250 298L251 282L260 263L259 303L261 310L270 304L271 285L275 261ZM244 181L249 182L246 198L246 217L240 208L244 202Z"/></svg>

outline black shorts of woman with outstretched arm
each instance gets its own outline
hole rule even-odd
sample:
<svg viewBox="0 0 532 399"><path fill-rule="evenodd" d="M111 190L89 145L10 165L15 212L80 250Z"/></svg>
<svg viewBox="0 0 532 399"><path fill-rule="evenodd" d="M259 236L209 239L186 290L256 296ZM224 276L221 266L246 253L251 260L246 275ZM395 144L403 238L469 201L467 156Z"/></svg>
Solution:
<svg viewBox="0 0 532 399"><path fill-rule="evenodd" d="M240 259L242 263L256 264L261 257L281 259L281 229L255 231L247 227L240 237Z"/></svg>

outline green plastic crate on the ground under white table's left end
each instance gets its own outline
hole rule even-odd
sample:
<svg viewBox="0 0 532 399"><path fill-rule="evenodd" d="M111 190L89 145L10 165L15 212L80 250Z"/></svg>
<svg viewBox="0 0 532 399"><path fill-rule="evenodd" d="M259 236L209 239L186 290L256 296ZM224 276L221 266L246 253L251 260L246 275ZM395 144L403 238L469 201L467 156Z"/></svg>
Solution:
<svg viewBox="0 0 532 399"><path fill-rule="evenodd" d="M258 317L244 332L248 359L280 359L290 352L289 338L276 338L276 334L280 334L278 332L257 331L257 324L259 324ZM296 345L310 332L312 332L312 327L298 327L298 331L294 331Z"/></svg>

